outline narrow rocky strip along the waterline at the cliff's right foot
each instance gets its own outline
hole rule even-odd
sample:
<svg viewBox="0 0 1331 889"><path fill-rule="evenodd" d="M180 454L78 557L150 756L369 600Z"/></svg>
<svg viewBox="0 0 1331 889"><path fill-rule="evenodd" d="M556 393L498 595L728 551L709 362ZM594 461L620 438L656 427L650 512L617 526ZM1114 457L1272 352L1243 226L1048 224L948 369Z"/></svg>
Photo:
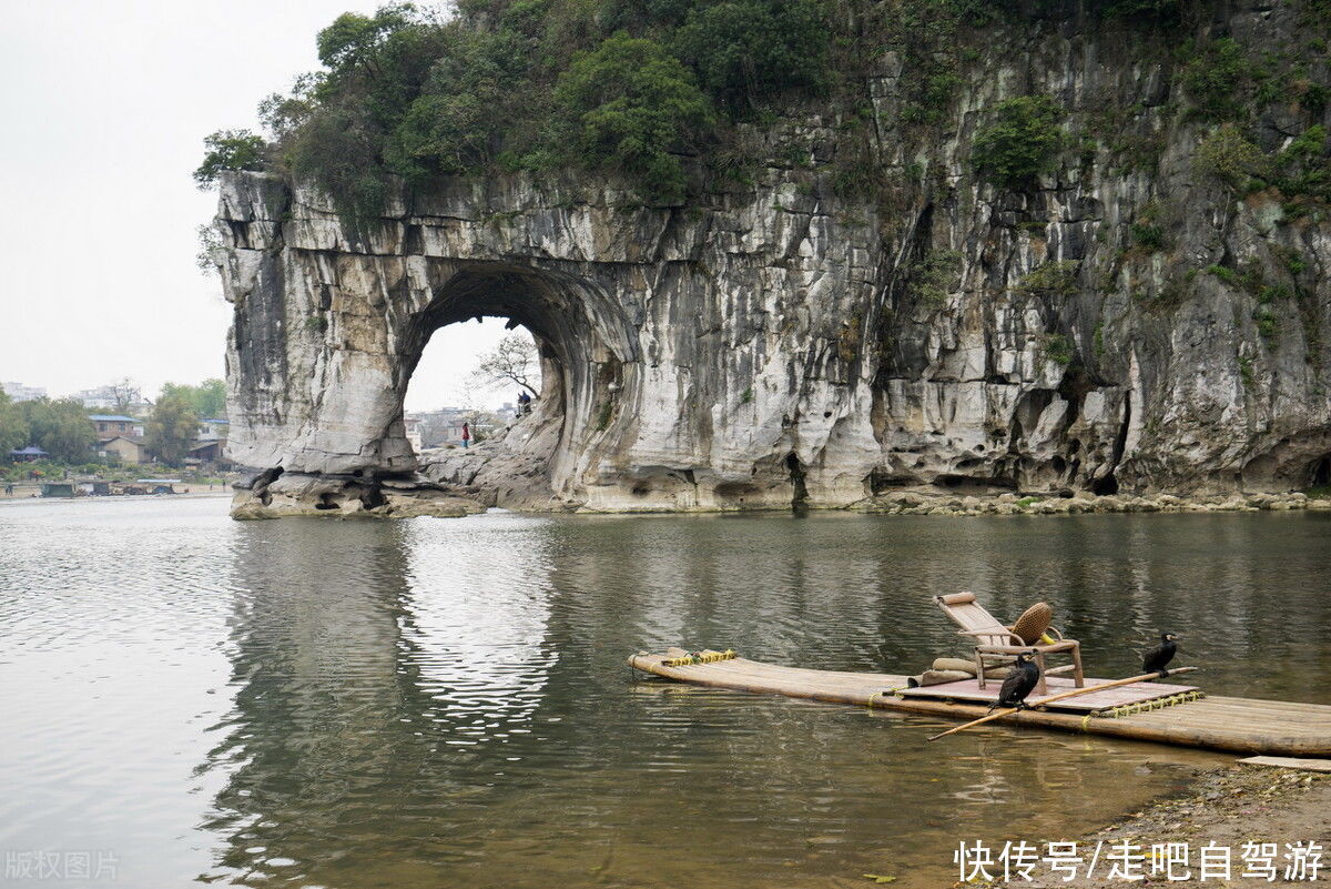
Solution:
<svg viewBox="0 0 1331 889"><path fill-rule="evenodd" d="M1262 512L1331 510L1331 494L1223 494L1211 496L1102 495L990 495L893 491L852 507L873 515L1082 515L1087 512Z"/></svg>

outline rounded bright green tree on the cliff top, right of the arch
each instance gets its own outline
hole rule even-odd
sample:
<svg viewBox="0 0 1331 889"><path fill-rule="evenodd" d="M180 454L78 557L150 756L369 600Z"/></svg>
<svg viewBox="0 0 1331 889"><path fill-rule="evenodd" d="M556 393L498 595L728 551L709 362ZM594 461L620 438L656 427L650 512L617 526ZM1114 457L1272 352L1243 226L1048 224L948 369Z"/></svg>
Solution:
<svg viewBox="0 0 1331 889"><path fill-rule="evenodd" d="M662 44L623 32L608 37L574 59L555 101L591 166L628 173L654 202L684 200L675 152L696 142L712 112L692 73Z"/></svg>

